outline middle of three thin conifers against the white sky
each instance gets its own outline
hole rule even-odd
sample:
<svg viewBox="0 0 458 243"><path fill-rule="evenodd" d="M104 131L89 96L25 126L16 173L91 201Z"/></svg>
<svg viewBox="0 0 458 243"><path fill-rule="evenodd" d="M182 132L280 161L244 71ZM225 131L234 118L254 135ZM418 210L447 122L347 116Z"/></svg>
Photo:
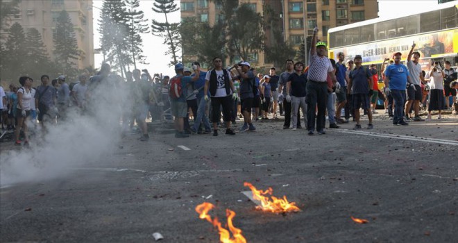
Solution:
<svg viewBox="0 0 458 243"><path fill-rule="evenodd" d="M137 69L136 59L141 62L145 60L142 49L143 40L140 33L149 33L148 24L145 24L148 19L144 19L144 12L142 10L137 10L139 6L139 0L126 0L127 15L129 19L130 53L135 69Z"/></svg>

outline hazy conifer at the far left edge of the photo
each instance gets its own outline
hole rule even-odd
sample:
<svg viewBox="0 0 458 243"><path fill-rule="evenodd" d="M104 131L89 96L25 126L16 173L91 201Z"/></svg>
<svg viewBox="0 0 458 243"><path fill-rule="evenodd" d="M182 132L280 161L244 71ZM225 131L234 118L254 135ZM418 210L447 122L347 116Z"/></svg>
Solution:
<svg viewBox="0 0 458 243"><path fill-rule="evenodd" d="M21 24L12 24L4 48L1 56L8 61L1 62L1 79L16 81L19 76L27 74L24 65L27 57L26 35Z"/></svg>

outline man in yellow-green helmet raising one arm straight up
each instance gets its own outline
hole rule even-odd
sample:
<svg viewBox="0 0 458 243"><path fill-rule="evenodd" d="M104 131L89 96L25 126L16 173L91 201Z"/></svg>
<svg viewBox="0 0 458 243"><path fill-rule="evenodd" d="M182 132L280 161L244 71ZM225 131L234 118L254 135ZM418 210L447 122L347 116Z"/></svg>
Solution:
<svg viewBox="0 0 458 243"><path fill-rule="evenodd" d="M331 61L326 56L327 45L325 42L317 42L316 34L318 28L313 30L312 47L309 53L309 71L307 76L307 95L305 102L307 103L307 129L308 135L314 135L315 120L316 131L319 134L325 134L325 114L326 101L328 101L328 75L332 79L332 83L337 83L334 75L334 67ZM318 115L315 115L315 108L318 106Z"/></svg>

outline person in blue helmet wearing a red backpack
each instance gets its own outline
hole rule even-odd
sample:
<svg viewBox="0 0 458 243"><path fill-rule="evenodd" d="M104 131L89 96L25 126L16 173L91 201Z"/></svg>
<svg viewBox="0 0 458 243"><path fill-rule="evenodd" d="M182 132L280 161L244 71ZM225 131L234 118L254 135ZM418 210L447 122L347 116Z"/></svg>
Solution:
<svg viewBox="0 0 458 243"><path fill-rule="evenodd" d="M186 85L188 83L198 80L200 76L199 73L201 71L200 68L197 67L197 69L194 70L196 75L192 77L192 76L183 76L183 69L185 69L183 64L177 63L175 65L176 76L173 77L173 78L179 78L181 76L182 94L180 95L180 97L178 97L178 99L173 99L170 97L171 111L172 111L173 117L175 117L175 120L174 120L175 129L176 129L175 137L189 137L189 135L183 132L184 127L185 127L185 117L187 117L187 103L186 103L187 86ZM171 78L171 80L173 80L173 78Z"/></svg>

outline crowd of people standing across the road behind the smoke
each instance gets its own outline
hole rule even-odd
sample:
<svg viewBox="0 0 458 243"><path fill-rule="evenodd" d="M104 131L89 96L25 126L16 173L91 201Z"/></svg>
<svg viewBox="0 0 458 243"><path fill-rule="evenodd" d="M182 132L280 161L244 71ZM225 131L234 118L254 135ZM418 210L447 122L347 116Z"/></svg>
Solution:
<svg viewBox="0 0 458 243"><path fill-rule="evenodd" d="M432 119L433 110L441 119L441 111L450 108L449 96L453 97L456 114L457 72L450 62L444 63L444 69L434 62L429 71L422 71L418 62L421 53L414 51L416 45L412 44L406 65L401 63L402 54L396 52L393 60L384 60L379 72L376 65L364 67L360 55L346 62L344 53L337 53L337 61L328 58L327 46L317 40L317 32L315 28L309 65L288 59L285 72L279 76L275 67L269 69L269 74L255 74L256 69L245 61L223 68L219 57L212 60L208 72L199 62L193 62L191 68L177 63L176 75L171 78L135 69L126 72L124 80L110 72L108 64L103 64L98 74L81 74L78 82L71 84L63 75L52 81L43 75L41 85L33 87L33 78L22 76L20 87L10 85L7 92L0 87L1 127L14 129L15 144L24 142L26 146L30 124L36 126L39 121L46 133L49 126L71 119L70 113L93 115L99 112L91 109L94 103L100 104L101 97L113 99L110 93L116 89L126 92L126 101L121 102L121 114L115 122L120 121L123 135L137 124L141 141L149 140L149 117L162 122L173 120L175 137L183 138L194 133L217 136L218 126L226 128L226 135L235 135L233 124L237 119L243 121L240 132L256 131L256 121L279 115L285 117L283 129L296 131L302 128L300 111L308 135L325 134L326 115L328 128L339 128L338 124L349 123L353 117L354 129L359 130L363 112L368 117L366 128L373 129L379 99L384 100L385 113L398 126L425 121L419 115L421 108L428 111L426 119Z"/></svg>

